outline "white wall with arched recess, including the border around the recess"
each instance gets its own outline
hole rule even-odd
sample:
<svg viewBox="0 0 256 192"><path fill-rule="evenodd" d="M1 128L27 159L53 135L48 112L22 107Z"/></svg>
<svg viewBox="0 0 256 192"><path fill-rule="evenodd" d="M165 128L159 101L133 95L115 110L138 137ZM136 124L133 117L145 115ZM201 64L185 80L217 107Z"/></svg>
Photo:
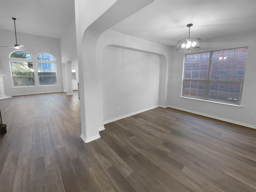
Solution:
<svg viewBox="0 0 256 192"><path fill-rule="evenodd" d="M110 48L111 47L111 48ZM116 48L116 49L114 49ZM108 50L108 51L107 51ZM110 51L112 50L112 51ZM113 51L114 50L114 51ZM110 52L109 52L110 51ZM130 116L131 114L136 114L138 112L154 108L156 106L166 106L166 93L167 93L167 72L168 72L168 63L171 61L171 48L168 46L164 46L161 44L157 44L154 42L150 42L147 40L143 40L140 38L136 38L134 36L130 36L127 34L123 34L120 32L116 32L113 30L106 30L100 35L100 38L97 42L97 66L98 66L98 81L103 82L102 87L98 89L98 94L103 95L102 105L104 106L104 124L114 121L119 118L123 118L125 116ZM110 56L108 56L110 54ZM158 86L156 84L153 84L152 86L152 95L154 95L150 100L150 93L146 96L146 90L141 90L138 93L134 93L139 88L142 88L143 85L138 82L139 76L136 76L136 82L138 85L132 87L129 81L129 77L125 77L124 79L120 79L119 73L124 73L126 71L126 65L130 65L130 63L133 62L141 62L143 67L144 64L147 62L152 64L150 62L150 58L152 58L154 63L159 64L159 69L157 70L158 80L159 82ZM158 62L156 62L156 58L158 58ZM148 60L149 59L149 60ZM111 60L115 60L115 62L111 63ZM106 63L107 62L107 63ZM114 69L112 66L115 66L117 64L120 64L119 66L116 66L117 68ZM108 68L110 67L110 68ZM118 71L114 71L118 70ZM145 72L148 71L150 68L145 69ZM112 72L113 71L113 72ZM108 76L106 73L111 73L111 77ZM115 74L118 73L118 74ZM136 66L132 66L132 68L129 68L128 74L133 75L133 73L136 74ZM146 74L143 74L141 71L141 79L143 80L148 79L148 81L152 82L156 80L156 76L152 75L153 80L151 81L151 77L147 76ZM100 79L102 78L102 79ZM110 78L110 79L108 79ZM111 88L111 90L108 90L108 87L111 87L109 84L106 84L106 79L111 80L114 83L114 86ZM125 102L128 100L128 98L124 98L123 95L121 95L123 98L116 98L115 94L118 94L120 96L120 93L118 93L118 90L114 90L115 86L118 86L118 89L121 89L124 91L124 88L122 85L119 85L119 81L123 83L123 86L128 86L128 91L126 92L126 97L134 98L134 96L141 96L141 98L136 98L135 102L130 102L129 105L125 104ZM145 82L144 82L145 83ZM105 87L107 86L107 88ZM149 84L145 84L145 87L149 86ZM157 87L157 91L156 91ZM117 89L117 88L116 88ZM142 88L143 89L143 88ZM149 88L150 89L150 88ZM102 93L103 90L103 93ZM154 91L153 91L154 90ZM113 92L113 97L111 97L111 94ZM156 97L156 92L158 92L158 96ZM106 95L108 97L106 97ZM158 101L156 100L158 98ZM126 99L126 101L123 103L122 99ZM146 100L146 103L142 104L140 101L144 99ZM148 100L147 100L148 99ZM99 100L100 102L100 100ZM117 103L118 102L118 103ZM120 107L120 111L117 112L116 108L117 105L122 105L122 108Z"/></svg>

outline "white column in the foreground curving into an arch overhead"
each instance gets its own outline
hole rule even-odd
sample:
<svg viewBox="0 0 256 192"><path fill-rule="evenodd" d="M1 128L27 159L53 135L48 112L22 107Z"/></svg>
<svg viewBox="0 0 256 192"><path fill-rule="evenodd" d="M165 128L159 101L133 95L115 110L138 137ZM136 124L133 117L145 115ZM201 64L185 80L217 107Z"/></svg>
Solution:
<svg viewBox="0 0 256 192"><path fill-rule="evenodd" d="M86 4L83 4L86 2ZM104 130L102 70L97 62L97 41L102 32L144 8L153 0L144 1L116 1L111 7L101 7L97 12L84 11L88 6L95 6L97 1L75 1L76 5L76 33L78 46L78 68L80 88L81 138L90 142L100 138L99 131ZM112 2L112 1L103 1ZM102 2L100 1L100 4ZM80 5L83 4L84 7ZM106 9L105 9L106 8ZM94 10L94 9L92 9ZM102 14L101 11L104 10ZM120 10L125 10L120 12ZM97 14L99 14L98 18ZM95 18L92 24L86 26L84 18ZM88 24L88 21L87 21ZM84 26L84 27L83 27ZM82 28L83 27L83 28ZM80 42L82 38L82 42ZM100 58L101 59L101 58Z"/></svg>

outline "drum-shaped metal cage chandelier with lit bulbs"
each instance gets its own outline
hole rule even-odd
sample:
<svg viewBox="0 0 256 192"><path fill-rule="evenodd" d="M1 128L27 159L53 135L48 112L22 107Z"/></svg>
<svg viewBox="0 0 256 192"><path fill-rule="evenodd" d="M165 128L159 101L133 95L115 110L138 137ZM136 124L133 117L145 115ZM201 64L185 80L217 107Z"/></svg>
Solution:
<svg viewBox="0 0 256 192"><path fill-rule="evenodd" d="M202 39L200 38L190 38L190 27L193 26L192 23L187 24L189 27L188 39L182 39L177 42L178 52L193 52L200 50Z"/></svg>

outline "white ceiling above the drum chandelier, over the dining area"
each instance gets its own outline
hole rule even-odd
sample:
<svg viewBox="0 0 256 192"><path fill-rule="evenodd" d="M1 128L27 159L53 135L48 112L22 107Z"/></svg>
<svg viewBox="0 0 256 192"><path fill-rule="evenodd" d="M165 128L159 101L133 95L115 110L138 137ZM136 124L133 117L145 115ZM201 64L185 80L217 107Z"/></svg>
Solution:
<svg viewBox="0 0 256 192"><path fill-rule="evenodd" d="M160 0L112 27L152 42L176 46L188 38L206 40L256 32L255 0Z"/></svg>

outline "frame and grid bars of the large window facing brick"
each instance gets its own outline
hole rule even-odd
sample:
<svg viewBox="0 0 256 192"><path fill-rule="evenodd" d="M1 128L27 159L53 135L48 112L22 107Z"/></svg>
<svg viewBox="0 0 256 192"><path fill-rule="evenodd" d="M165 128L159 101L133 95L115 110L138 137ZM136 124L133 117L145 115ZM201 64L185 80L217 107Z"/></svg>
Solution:
<svg viewBox="0 0 256 192"><path fill-rule="evenodd" d="M211 80L211 72L212 72L212 55L213 52L218 52L218 51L225 51L225 50L236 50L236 49L240 49L240 48L247 48L247 54L248 54L248 46L244 46L244 47L238 47L238 48L228 48L228 49L221 49L221 50L213 50L213 51L206 51L206 52L199 52L199 53L190 53L190 54L185 54L184 55L184 62L183 62L183 74L182 74L182 92L181 92L181 97L182 98L188 98L188 99L193 99L193 100L200 100L203 102L213 102L213 103L218 103L218 104L223 104L223 105L230 105L230 106L237 106L237 107L241 107L241 101L242 101L242 91L243 91L243 86L244 86L244 79L242 81L238 81L238 80ZM192 54L202 54L202 53L210 53L209 56L209 66L208 66L208 75L207 75L207 79L186 79L185 78L185 68L186 68L186 56L187 55L192 55ZM201 55L202 56L202 55ZM200 60L201 60L201 56L200 56ZM233 58L233 60L235 60ZM247 56L246 56L246 63L247 63ZM233 70L232 70L233 71ZM246 65L245 65L245 69L244 69L244 76L245 76L245 71L246 71ZM205 90L204 90L204 98L197 98L198 97L198 88L197 88L197 96L196 97L190 97L190 96L184 96L184 82L186 81L197 81L197 82L205 82ZM220 101L218 100L218 97L216 100L210 100L209 96L210 96L210 83L211 82L226 82L226 83L241 83L241 88L240 88L240 98L239 98L239 102L238 103L232 103L232 102L225 102L225 101ZM190 87L191 90L191 87ZM218 86L218 94L219 94L219 86ZM228 92L228 94L230 94L230 91ZM228 98L229 100L229 98Z"/></svg>

